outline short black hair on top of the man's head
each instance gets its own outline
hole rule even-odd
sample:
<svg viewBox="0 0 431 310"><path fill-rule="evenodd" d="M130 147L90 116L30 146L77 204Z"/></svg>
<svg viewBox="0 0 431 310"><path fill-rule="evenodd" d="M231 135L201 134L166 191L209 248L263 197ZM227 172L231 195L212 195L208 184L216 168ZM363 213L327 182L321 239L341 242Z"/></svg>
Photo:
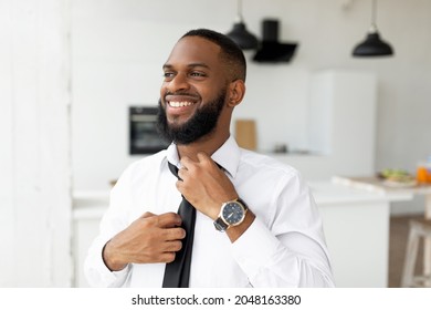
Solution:
<svg viewBox="0 0 431 310"><path fill-rule="evenodd" d="M203 28L190 30L181 39L186 37L200 37L219 45L221 49L220 56L225 62L231 79L245 82L245 56L241 48L232 39L223 33Z"/></svg>

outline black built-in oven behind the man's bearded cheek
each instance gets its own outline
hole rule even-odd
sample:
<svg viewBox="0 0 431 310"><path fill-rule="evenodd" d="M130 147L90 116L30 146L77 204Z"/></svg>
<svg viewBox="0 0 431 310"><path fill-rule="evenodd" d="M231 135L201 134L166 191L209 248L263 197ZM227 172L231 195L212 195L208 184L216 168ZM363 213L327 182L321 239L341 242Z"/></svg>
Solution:
<svg viewBox="0 0 431 310"><path fill-rule="evenodd" d="M129 106L129 154L154 154L169 143L157 132L157 106Z"/></svg>

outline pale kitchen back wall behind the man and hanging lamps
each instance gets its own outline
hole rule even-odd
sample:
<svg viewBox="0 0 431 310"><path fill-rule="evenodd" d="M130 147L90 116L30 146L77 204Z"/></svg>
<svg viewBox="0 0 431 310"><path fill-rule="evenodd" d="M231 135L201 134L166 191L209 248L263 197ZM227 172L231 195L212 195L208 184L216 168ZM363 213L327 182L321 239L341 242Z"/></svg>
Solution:
<svg viewBox="0 0 431 310"><path fill-rule="evenodd" d="M248 93L235 117L257 121L259 147L308 148L311 76L324 69L375 73L378 81L376 169L413 172L431 154L431 1L380 0L377 24L393 58L354 59L370 22L371 1L245 0L248 28L282 22L281 41L297 41L288 64L249 62ZM231 0L73 0L73 166L78 190L105 189L136 157L127 154L126 107L155 104L161 64L190 28L227 32ZM246 54L251 58L251 54ZM345 133L348 140L350 133ZM355 137L351 136L351 140Z"/></svg>

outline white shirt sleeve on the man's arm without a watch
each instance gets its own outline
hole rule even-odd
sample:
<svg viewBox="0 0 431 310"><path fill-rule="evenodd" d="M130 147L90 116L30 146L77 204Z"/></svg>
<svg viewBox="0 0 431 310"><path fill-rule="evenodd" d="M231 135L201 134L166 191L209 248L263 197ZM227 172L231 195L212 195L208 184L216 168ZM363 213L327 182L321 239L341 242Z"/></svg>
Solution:
<svg viewBox="0 0 431 310"><path fill-rule="evenodd" d="M106 242L128 226L130 195L126 169L111 192L109 208L102 218L99 234L91 245L85 262L85 277L92 287L123 287L130 273L130 266L120 271L111 271L102 257Z"/></svg>

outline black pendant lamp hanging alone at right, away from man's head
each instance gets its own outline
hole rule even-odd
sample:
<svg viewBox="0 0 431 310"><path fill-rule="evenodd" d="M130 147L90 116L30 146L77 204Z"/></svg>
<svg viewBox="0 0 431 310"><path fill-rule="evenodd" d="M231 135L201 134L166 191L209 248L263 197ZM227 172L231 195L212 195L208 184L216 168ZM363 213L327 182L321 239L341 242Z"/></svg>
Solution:
<svg viewBox="0 0 431 310"><path fill-rule="evenodd" d="M376 25L376 1L372 0L371 27L368 30L367 38L355 46L353 55L357 58L367 56L390 56L393 55L391 45L380 39Z"/></svg>

